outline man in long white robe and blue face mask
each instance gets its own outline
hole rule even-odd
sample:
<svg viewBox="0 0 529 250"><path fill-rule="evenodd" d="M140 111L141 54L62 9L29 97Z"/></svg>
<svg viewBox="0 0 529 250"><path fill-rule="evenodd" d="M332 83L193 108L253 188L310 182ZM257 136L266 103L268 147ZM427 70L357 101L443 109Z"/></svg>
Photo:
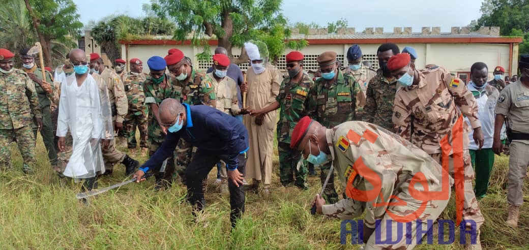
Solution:
<svg viewBox="0 0 529 250"><path fill-rule="evenodd" d="M72 154L63 172L71 178L86 179L83 189L97 188L97 174L105 171L101 153L103 120L96 80L88 73L83 50L70 52L75 73L63 79L59 101L57 136L59 150L66 149L65 136L70 129Z"/></svg>

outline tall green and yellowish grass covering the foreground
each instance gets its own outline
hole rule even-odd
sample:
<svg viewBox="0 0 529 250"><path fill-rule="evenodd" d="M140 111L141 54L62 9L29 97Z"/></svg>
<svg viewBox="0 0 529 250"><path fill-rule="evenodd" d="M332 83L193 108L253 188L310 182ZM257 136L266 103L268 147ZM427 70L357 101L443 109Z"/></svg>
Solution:
<svg viewBox="0 0 529 250"><path fill-rule="evenodd" d="M278 178L278 159L274 161L271 196L263 199L248 193L246 213L231 232L229 198L209 184L207 209L199 223L185 202L185 188L177 181L166 192L153 191L153 178L140 184L128 184L109 191L88 205L75 198L79 184L61 182L52 172L39 136L38 170L25 176L22 159L15 145L15 171L0 173L0 248L2 249L356 249L358 245L340 245L340 221L309 215L309 203L321 187L319 178L310 178L308 191L284 193ZM122 149L126 151L126 149ZM134 154L140 162L146 155ZM479 201L485 216L481 228L484 249L528 249L529 215L527 206L517 229L509 229L507 216L506 172L508 158L497 158L486 198ZM215 180L216 170L209 174ZM111 177L103 177L106 187L124 177L118 165ZM526 182L524 193L529 193ZM527 195L525 196L527 201ZM455 219L454 202L443 217ZM203 222L208 221L207 227ZM458 232L458 230L457 230ZM453 245L419 245L416 249L463 249Z"/></svg>

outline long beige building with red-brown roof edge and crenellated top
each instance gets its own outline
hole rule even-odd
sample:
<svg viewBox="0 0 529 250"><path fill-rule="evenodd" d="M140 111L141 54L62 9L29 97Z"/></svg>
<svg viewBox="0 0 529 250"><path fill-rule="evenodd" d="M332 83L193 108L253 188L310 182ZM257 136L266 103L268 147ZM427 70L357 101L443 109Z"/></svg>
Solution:
<svg viewBox="0 0 529 250"><path fill-rule="evenodd" d="M518 43L521 38L506 38L499 36L498 27L484 27L479 32L470 32L468 27L452 27L450 33L441 33L440 27L423 27L421 33L413 33L411 27L396 27L392 33L384 33L381 28L367 28L362 33L356 33L353 28L341 29L338 33L327 34L326 29L311 29L309 34L296 33L293 30L291 39L305 39L309 45L300 52L305 55L305 69L316 70L318 68L316 58L324 51L335 51L338 59L346 67L345 59L347 50L352 44L359 44L362 49L364 60L371 61L373 68L378 68L377 48L386 42L396 43L402 50L405 46L413 47L418 58L416 65L424 68L426 64L437 64L450 70L462 80L470 79L470 66L472 63L482 61L487 63L489 71L496 66L503 66L506 75L513 75L517 69ZM165 57L170 48L177 48L194 60L194 66L200 70L206 70L212 65L212 61L198 61L195 55L202 52L202 48L190 45L189 41L184 44L174 40L133 40L121 41L122 57L140 58L143 62L153 55ZM215 49L217 41L211 40L211 52ZM233 48L233 53L240 53L240 48ZM285 54L290 52L286 50ZM234 55L237 57L238 55ZM248 64L241 64L241 69L248 68ZM285 70L285 55L278 61L277 67ZM143 70L148 72L148 67Z"/></svg>

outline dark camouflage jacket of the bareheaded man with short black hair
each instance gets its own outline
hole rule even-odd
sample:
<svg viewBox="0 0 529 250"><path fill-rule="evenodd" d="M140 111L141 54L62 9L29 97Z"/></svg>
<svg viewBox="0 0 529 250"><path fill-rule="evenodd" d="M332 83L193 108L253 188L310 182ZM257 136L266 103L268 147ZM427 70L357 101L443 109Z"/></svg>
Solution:
<svg viewBox="0 0 529 250"><path fill-rule="evenodd" d="M389 81L379 74L369 81L366 92L366 106L363 108L362 121L377 124L395 132L391 116L397 92L397 79Z"/></svg>

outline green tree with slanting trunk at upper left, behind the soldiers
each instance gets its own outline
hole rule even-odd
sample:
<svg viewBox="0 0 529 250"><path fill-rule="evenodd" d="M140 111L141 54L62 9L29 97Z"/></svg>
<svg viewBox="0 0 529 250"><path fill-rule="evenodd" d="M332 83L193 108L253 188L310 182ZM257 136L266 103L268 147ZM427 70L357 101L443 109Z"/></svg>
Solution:
<svg viewBox="0 0 529 250"><path fill-rule="evenodd" d="M72 0L24 0L34 31L42 45L44 64L52 65L52 41L64 48L75 48L83 28L77 5Z"/></svg>

